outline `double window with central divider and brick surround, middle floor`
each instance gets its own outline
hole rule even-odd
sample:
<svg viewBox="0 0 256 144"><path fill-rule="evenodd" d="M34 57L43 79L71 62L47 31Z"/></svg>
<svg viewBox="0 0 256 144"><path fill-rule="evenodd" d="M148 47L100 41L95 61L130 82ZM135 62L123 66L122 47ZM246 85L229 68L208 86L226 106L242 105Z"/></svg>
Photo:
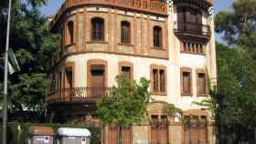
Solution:
<svg viewBox="0 0 256 144"><path fill-rule="evenodd" d="M163 95L166 92L165 67L155 66L151 69L152 90L157 95Z"/></svg>

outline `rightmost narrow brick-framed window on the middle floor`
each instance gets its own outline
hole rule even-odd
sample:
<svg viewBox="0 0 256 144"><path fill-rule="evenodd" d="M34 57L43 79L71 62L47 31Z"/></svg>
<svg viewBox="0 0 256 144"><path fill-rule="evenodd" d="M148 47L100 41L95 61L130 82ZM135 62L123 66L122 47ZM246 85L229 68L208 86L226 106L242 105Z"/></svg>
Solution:
<svg viewBox="0 0 256 144"><path fill-rule="evenodd" d="M197 73L197 94L207 94L207 76L205 73Z"/></svg>

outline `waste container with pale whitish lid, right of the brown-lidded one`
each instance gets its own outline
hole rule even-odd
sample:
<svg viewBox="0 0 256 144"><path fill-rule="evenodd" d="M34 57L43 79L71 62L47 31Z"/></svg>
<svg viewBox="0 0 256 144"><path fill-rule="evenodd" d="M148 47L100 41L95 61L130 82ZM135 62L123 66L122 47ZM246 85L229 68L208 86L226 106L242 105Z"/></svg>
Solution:
<svg viewBox="0 0 256 144"><path fill-rule="evenodd" d="M80 128L59 128L57 144L90 144L91 132Z"/></svg>

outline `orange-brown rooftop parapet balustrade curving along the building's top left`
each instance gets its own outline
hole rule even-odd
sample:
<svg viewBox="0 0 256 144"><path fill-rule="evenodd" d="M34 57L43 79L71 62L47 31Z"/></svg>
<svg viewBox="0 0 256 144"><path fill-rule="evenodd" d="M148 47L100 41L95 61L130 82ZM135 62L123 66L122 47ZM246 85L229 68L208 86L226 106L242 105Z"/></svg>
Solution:
<svg viewBox="0 0 256 144"><path fill-rule="evenodd" d="M162 0L66 0L53 17L49 28L53 29L60 17L70 8L80 5L105 5L150 14L167 15L167 4Z"/></svg>

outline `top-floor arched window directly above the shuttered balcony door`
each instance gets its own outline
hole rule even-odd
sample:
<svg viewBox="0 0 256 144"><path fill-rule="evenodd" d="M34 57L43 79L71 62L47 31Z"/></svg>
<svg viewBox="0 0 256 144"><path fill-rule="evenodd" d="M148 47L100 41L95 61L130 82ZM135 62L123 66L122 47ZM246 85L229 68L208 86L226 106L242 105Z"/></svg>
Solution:
<svg viewBox="0 0 256 144"><path fill-rule="evenodd" d="M91 39L104 40L104 20L99 17L91 19Z"/></svg>

